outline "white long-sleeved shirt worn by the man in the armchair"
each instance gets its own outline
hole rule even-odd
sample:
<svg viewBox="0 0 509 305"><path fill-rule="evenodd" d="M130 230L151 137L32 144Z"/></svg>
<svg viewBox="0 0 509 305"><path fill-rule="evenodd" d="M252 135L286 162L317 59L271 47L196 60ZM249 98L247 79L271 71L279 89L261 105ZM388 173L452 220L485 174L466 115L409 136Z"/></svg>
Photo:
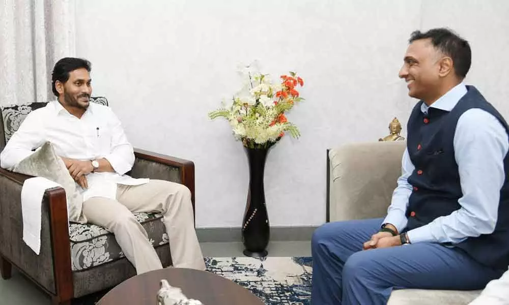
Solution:
<svg viewBox="0 0 509 305"><path fill-rule="evenodd" d="M32 111L0 154L0 165L12 169L47 141L61 157L82 161L106 158L116 171L88 174L88 189L78 187L83 201L91 197L115 199L117 184L148 182L148 179L125 175L134 164L133 147L127 141L120 120L107 106L91 102L81 118L70 114L56 100Z"/></svg>

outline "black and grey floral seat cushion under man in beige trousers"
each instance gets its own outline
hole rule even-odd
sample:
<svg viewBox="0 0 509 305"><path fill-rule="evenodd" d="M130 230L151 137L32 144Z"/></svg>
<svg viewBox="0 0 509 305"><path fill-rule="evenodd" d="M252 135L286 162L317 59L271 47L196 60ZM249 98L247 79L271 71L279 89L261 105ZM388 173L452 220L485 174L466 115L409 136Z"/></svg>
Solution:
<svg viewBox="0 0 509 305"><path fill-rule="evenodd" d="M142 212L135 213L134 216L147 231L154 247L167 245L169 240L161 214ZM73 271L97 267L124 257L115 235L103 227L71 223L69 235Z"/></svg>

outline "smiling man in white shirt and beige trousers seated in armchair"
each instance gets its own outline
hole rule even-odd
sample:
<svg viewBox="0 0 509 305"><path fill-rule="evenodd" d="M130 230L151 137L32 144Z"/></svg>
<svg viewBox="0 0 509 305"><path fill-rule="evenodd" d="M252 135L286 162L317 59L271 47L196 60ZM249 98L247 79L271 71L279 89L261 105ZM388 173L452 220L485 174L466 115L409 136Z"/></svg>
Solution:
<svg viewBox="0 0 509 305"><path fill-rule="evenodd" d="M80 186L83 205L74 221L113 232L140 274L162 265L133 212L161 212L173 265L204 270L189 189L125 175L134 163L133 147L111 109L90 103L90 70L90 62L80 58L66 57L55 64L51 85L58 99L27 115L2 151L1 166L12 169L33 149L51 142Z"/></svg>

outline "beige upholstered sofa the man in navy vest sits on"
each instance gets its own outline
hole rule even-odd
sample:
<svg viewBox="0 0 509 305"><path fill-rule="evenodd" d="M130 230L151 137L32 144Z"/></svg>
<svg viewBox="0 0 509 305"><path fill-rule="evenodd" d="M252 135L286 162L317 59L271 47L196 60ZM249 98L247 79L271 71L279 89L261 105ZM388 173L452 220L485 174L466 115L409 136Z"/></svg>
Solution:
<svg viewBox="0 0 509 305"><path fill-rule="evenodd" d="M401 175L406 141L347 144L327 158L327 221L384 217ZM464 305L481 290L394 290L388 305Z"/></svg>

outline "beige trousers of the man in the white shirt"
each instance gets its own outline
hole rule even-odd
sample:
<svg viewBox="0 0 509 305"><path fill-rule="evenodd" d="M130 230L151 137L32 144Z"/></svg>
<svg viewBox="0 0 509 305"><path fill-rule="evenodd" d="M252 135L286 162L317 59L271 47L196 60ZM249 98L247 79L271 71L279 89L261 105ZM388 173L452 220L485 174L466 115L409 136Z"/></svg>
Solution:
<svg viewBox="0 0 509 305"><path fill-rule="evenodd" d="M118 185L117 200L92 197L83 202L87 220L115 234L136 273L162 268L145 229L134 212L160 212L163 215L174 267L205 270L200 244L194 231L191 192L181 184L150 180L139 186Z"/></svg>

